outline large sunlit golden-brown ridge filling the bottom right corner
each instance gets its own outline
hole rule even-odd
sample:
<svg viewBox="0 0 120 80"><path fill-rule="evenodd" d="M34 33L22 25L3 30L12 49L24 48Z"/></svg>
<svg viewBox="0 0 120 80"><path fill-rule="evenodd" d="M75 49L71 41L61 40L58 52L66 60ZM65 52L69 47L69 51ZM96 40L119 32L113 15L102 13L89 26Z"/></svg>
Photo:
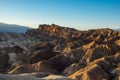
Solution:
<svg viewBox="0 0 120 80"><path fill-rule="evenodd" d="M118 67L120 56L108 56L103 57L100 59L95 60L94 62L90 63L83 69L79 69L69 77L76 79L76 80L102 80L102 79L112 79L113 76L119 76L119 71L112 70L115 67ZM115 68L116 69L116 68ZM113 72L111 72L112 70ZM111 76L110 76L111 75ZM115 77L115 76L114 76ZM84 79L85 78L85 79Z"/></svg>

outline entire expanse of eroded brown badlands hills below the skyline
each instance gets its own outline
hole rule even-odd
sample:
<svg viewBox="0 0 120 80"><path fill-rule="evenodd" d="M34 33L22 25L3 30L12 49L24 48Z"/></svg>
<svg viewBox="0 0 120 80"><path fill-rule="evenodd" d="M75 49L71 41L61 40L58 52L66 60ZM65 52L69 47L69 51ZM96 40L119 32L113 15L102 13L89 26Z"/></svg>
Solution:
<svg viewBox="0 0 120 80"><path fill-rule="evenodd" d="M32 80L51 79L51 74L61 80L119 80L120 32L44 24L25 34L0 33L0 72L20 80L20 74Z"/></svg>

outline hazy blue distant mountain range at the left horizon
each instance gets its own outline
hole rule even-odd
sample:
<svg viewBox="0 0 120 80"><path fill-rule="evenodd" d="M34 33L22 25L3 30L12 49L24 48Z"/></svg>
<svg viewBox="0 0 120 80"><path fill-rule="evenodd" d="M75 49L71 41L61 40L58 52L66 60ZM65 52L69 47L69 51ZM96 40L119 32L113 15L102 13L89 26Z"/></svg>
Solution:
<svg viewBox="0 0 120 80"><path fill-rule="evenodd" d="M0 23L0 32L25 33L26 30L28 29L31 29L31 28L27 26L21 26L21 25Z"/></svg>

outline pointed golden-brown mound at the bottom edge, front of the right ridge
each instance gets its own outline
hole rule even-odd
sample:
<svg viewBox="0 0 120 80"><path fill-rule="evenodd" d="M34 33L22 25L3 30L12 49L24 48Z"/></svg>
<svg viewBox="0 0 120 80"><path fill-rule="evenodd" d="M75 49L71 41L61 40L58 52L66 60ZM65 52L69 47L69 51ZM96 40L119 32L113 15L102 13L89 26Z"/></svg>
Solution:
<svg viewBox="0 0 120 80"><path fill-rule="evenodd" d="M69 76L75 80L109 80L109 75L99 66L93 65L85 69L80 69Z"/></svg>

